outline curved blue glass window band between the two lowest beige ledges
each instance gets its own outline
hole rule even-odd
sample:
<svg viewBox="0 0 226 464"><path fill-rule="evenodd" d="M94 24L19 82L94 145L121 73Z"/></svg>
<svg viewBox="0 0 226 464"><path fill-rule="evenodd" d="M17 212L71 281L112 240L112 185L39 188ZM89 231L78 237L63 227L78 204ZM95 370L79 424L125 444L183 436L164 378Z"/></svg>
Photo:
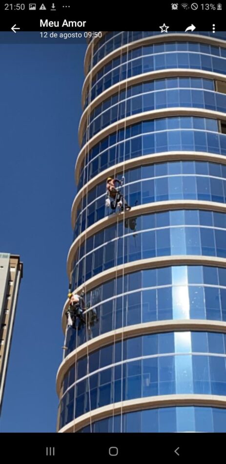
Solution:
<svg viewBox="0 0 226 464"><path fill-rule="evenodd" d="M91 353L89 363L87 357L79 360L63 382L61 426L71 422L74 412L79 417L135 398L225 395L226 335L169 332L114 343Z"/></svg>

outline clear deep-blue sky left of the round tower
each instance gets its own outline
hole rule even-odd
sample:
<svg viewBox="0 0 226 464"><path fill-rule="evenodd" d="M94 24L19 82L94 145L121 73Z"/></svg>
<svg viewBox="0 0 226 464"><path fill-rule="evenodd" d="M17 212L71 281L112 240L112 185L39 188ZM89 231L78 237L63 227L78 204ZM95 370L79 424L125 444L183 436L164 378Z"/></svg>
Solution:
<svg viewBox="0 0 226 464"><path fill-rule="evenodd" d="M0 252L24 264L1 432L55 432L85 44L0 45Z"/></svg>

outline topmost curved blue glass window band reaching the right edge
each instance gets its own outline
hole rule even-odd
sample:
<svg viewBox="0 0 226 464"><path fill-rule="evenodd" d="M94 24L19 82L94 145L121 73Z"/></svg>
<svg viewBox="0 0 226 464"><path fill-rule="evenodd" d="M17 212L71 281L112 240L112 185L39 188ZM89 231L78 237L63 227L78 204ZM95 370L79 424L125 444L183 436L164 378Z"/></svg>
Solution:
<svg viewBox="0 0 226 464"><path fill-rule="evenodd" d="M112 85L139 74L170 68L203 69L226 74L225 58L225 48L198 42L143 45L108 61L95 74L91 92L87 89L84 107Z"/></svg>

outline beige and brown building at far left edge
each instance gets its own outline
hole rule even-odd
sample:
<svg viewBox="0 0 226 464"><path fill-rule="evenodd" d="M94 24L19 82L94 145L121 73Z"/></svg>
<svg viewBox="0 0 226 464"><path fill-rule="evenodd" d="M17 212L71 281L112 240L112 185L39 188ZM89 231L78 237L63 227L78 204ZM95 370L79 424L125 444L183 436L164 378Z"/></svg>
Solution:
<svg viewBox="0 0 226 464"><path fill-rule="evenodd" d="M0 253L0 411L22 276L20 256Z"/></svg>

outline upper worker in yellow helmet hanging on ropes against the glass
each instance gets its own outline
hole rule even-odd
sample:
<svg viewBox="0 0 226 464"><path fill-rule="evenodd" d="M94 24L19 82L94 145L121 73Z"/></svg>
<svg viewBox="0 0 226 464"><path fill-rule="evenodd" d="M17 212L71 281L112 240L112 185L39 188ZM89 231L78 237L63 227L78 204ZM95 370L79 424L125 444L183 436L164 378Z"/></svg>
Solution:
<svg viewBox="0 0 226 464"><path fill-rule="evenodd" d="M121 187L123 186L123 183L124 177L122 177L121 181L119 181L119 179L112 179L112 177L107 178L105 201L105 205L107 207L111 206L111 209L113 210L118 207L121 209L121 211L129 211L131 209L131 206L128 205L123 197L123 194L121 193Z"/></svg>

